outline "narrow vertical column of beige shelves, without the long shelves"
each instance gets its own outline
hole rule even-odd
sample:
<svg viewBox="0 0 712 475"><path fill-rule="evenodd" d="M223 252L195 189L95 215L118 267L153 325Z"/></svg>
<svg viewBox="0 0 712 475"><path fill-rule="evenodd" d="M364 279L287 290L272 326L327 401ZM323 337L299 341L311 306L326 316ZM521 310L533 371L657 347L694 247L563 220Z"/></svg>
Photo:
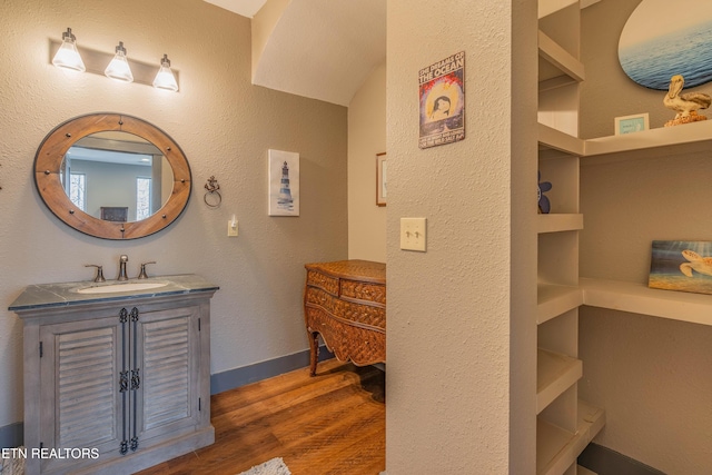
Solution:
<svg viewBox="0 0 712 475"><path fill-rule="evenodd" d="M576 458L605 423L605 413L578 400L578 0L538 2L538 170L554 187L550 214L537 216L536 473L575 475ZM589 472L590 473L590 472Z"/></svg>

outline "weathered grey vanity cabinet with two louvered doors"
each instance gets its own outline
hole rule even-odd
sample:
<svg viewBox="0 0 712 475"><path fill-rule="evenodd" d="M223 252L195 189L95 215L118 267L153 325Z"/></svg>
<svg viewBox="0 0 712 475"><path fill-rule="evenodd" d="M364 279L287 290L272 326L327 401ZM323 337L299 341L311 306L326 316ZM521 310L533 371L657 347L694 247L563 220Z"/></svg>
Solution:
<svg viewBox="0 0 712 475"><path fill-rule="evenodd" d="M215 441L217 287L197 276L160 280L145 293L31 286L10 307L24 324L28 475L128 474Z"/></svg>

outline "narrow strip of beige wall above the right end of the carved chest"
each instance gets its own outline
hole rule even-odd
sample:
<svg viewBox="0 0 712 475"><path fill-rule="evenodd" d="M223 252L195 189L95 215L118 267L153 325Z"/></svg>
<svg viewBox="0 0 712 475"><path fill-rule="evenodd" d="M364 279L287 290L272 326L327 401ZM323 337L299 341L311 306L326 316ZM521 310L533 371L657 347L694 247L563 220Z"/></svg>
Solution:
<svg viewBox="0 0 712 475"><path fill-rule="evenodd" d="M376 206L376 154L386 151L386 63L348 106L348 257L386 261L386 211Z"/></svg>

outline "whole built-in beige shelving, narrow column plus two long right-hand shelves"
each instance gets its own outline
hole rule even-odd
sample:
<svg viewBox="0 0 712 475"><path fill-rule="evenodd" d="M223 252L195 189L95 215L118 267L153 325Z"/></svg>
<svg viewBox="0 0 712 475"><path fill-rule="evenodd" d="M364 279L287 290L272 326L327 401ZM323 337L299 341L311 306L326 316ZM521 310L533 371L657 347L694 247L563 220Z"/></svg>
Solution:
<svg viewBox="0 0 712 475"><path fill-rule="evenodd" d="M576 458L605 424L605 412L577 397L585 367L577 358L582 305L712 325L712 296L644 284L578 277L578 170L586 164L651 159L712 147L712 120L623 136L578 138L580 8L596 0L538 1L538 169L551 214L537 216L536 473L591 475Z"/></svg>

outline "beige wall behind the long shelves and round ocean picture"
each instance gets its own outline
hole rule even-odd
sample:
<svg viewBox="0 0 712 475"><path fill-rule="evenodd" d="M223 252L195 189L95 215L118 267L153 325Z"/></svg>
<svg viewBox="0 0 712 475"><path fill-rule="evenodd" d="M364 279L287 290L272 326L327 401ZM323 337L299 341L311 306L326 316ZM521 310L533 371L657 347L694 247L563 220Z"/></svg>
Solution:
<svg viewBox="0 0 712 475"><path fill-rule="evenodd" d="M586 138L612 135L616 116L650 112L652 128L672 117L664 92L636 85L617 62L621 30L639 3L606 0L583 11ZM653 239L711 239L711 176L708 152L582 160L581 275L646 284ZM711 343L709 326L582 309L580 394L607 419L596 442L671 475L711 473Z"/></svg>

